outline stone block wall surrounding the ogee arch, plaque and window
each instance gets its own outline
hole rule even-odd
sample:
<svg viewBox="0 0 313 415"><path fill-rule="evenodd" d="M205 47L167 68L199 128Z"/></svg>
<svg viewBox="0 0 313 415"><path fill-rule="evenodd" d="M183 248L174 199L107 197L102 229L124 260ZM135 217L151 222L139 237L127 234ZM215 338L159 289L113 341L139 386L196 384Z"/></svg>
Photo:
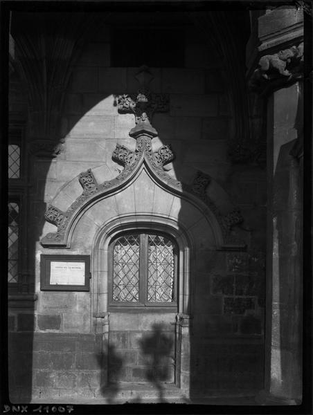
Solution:
<svg viewBox="0 0 313 415"><path fill-rule="evenodd" d="M107 217L142 210L175 216L181 222L188 220L190 227L199 219L194 231L199 235L193 258L195 272L191 275L191 394L262 386L265 174L258 165L231 164L229 140L233 138L233 119L222 62L218 55L208 55L195 28L186 28L187 33L184 68L150 68L154 77L150 83L152 92L170 95L170 111L156 113L152 119L159 132L152 147L156 150L163 144L172 146L176 158L166 170L178 181L192 184L197 170L211 176L207 193L221 214L232 210L233 205L240 207L248 230L237 228L235 236L244 239L248 250L212 252L212 244L202 243L209 238L203 235L201 218L190 217L188 203L161 193L155 193L152 199L150 193L147 196L151 187L144 180L141 183L141 178L125 191L124 197L116 194L111 204L104 201L98 210L87 212L75 228L71 251L42 248L40 238L55 231L54 225L44 221L48 203L66 210L82 192L78 174L90 168L100 182L111 180L122 169L111 159L116 143L135 149L136 142L129 137L134 116L118 113L116 95L136 92L138 82L134 75L138 68L111 67L109 30L99 30L73 67L62 113L62 151L48 160L29 156L28 255L35 258L29 267L35 275L38 299L34 312L10 311L10 344L20 344L19 336L29 339L28 358L23 355L25 349L17 349L10 361L13 367L19 367L19 354L33 362L35 398L73 396L74 392L75 396L101 396L102 388L107 387L107 359L112 381L175 380L175 326L171 325L174 315L166 317L166 327L156 336L162 317L153 322L156 326L149 321L143 328L150 315L130 315L138 325L127 324L122 329L129 315L112 313L108 352L103 356L103 344L100 346L100 338L94 334L92 293L46 293L39 289L40 253L93 255L94 235ZM140 336L141 343L134 343ZM150 374L150 366L155 362L154 345L150 348L149 341L155 336L157 349L164 351L164 362L161 359L154 364L156 371ZM162 338L168 342L164 347ZM147 353L142 353L145 347ZM12 385L17 385L19 391L19 369L13 372Z"/></svg>

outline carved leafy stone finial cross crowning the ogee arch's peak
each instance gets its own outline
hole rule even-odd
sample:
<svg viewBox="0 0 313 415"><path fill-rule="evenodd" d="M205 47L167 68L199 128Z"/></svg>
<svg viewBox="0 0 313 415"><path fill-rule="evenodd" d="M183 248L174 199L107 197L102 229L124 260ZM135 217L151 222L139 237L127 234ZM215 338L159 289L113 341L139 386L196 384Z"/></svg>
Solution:
<svg viewBox="0 0 313 415"><path fill-rule="evenodd" d="M121 113L134 113L136 124L152 121L155 112L167 112L169 110L169 95L166 93L151 93L148 84L153 80L147 66L141 66L136 74L139 83L137 93L117 96L118 111Z"/></svg>

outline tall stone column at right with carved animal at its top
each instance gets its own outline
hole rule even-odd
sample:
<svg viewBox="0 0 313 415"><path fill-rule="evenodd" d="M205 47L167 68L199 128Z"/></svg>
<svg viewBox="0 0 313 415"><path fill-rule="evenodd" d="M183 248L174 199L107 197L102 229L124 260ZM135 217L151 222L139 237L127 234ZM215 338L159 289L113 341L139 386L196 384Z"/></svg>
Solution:
<svg viewBox="0 0 313 415"><path fill-rule="evenodd" d="M299 405L303 367L303 181L298 151L303 138L302 10L266 10L258 17L258 40L248 78L251 88L267 102L268 192L265 389L257 401Z"/></svg>

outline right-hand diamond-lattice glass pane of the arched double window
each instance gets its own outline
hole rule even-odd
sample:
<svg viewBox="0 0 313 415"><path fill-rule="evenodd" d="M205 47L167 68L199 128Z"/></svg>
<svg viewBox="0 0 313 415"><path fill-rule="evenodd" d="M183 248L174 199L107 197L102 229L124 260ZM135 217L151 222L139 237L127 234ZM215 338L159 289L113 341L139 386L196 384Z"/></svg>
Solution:
<svg viewBox="0 0 313 415"><path fill-rule="evenodd" d="M147 300L174 301L174 246L159 235L148 236Z"/></svg>

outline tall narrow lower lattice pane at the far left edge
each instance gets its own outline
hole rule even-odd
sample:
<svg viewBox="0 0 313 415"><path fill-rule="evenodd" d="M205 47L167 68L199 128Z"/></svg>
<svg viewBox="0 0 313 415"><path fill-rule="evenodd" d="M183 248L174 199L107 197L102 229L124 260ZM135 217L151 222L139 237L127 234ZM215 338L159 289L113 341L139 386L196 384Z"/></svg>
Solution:
<svg viewBox="0 0 313 415"><path fill-rule="evenodd" d="M8 282L17 282L19 259L19 205L8 203Z"/></svg>

